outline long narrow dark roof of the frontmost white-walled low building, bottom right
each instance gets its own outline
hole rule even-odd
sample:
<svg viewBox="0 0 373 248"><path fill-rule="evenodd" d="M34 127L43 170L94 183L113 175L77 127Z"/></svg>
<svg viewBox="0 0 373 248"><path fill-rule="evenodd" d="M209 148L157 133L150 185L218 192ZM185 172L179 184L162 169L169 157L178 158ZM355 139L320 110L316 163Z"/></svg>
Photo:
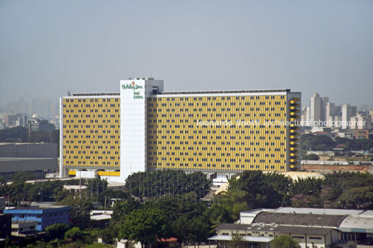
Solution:
<svg viewBox="0 0 373 248"><path fill-rule="evenodd" d="M307 226L280 226L271 224L230 224L224 223L216 227L217 230L236 230L236 231L273 231L276 233L299 233L299 234L314 234L326 235L333 229L307 227Z"/></svg>

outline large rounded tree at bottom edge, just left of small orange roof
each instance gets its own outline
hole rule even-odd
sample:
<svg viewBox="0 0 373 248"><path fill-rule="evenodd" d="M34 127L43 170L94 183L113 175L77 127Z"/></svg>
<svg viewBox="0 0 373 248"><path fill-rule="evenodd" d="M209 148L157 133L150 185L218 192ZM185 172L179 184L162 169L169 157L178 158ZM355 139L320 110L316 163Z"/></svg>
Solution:
<svg viewBox="0 0 373 248"><path fill-rule="evenodd" d="M157 238L168 238L170 226L167 217L159 208L133 210L120 224L118 239L134 240L144 244L154 244Z"/></svg>

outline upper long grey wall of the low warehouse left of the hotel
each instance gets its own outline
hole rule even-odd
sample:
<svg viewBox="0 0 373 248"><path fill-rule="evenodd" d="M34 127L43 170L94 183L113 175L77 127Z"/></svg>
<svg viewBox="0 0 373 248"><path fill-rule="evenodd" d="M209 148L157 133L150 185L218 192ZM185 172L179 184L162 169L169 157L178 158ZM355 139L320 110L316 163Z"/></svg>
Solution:
<svg viewBox="0 0 373 248"><path fill-rule="evenodd" d="M0 158L57 158L56 143L0 144Z"/></svg>

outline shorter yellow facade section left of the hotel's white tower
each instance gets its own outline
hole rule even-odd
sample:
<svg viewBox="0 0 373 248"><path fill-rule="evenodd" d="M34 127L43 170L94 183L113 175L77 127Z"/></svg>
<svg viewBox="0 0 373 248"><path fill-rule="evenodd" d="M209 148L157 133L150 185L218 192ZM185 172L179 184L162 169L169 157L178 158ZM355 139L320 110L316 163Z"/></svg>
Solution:
<svg viewBox="0 0 373 248"><path fill-rule="evenodd" d="M119 97L63 97L63 167L120 168Z"/></svg>

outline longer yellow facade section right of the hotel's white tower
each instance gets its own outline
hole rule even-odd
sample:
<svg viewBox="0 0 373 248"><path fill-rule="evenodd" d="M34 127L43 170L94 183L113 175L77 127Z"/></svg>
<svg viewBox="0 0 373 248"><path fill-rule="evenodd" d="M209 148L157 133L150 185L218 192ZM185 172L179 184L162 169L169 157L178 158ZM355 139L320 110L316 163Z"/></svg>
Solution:
<svg viewBox="0 0 373 248"><path fill-rule="evenodd" d="M287 101L286 94L150 97L148 168L223 172L294 168L298 129L273 124L298 118L294 109L299 99L291 99L294 104ZM232 124L200 125L200 121L226 120ZM237 120L244 122L239 125ZM287 137L290 131L292 138Z"/></svg>

